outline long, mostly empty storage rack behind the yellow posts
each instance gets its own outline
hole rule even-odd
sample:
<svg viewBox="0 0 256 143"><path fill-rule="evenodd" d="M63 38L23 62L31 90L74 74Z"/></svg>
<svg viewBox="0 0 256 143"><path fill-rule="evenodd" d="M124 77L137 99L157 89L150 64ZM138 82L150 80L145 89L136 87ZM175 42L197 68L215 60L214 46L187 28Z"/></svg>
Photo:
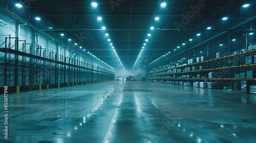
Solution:
<svg viewBox="0 0 256 143"><path fill-rule="evenodd" d="M8 35L0 44L0 90L4 86L11 92L17 86L20 91L35 90L38 85L41 88L77 86L110 81L114 77L112 71L96 66L93 60L79 61L58 55L18 37Z"/></svg>

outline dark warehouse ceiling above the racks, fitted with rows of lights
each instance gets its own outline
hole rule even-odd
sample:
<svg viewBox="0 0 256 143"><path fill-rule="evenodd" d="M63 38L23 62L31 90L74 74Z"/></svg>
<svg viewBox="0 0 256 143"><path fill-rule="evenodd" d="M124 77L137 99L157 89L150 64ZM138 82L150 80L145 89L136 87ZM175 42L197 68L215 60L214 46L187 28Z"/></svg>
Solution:
<svg viewBox="0 0 256 143"><path fill-rule="evenodd" d="M96 2L97 7L93 7L92 2ZM165 7L160 6L162 2L166 3ZM245 3L250 6L243 8ZM194 12L191 7L196 8ZM78 52L90 52L114 68L122 68L123 65L125 69L132 69L143 68L168 52L168 56L182 57L189 55L191 47L194 52L197 51L204 44L195 46L196 44L220 32L231 30L237 23L255 16L255 7L255 1L239 0L40 0L31 2L28 8L33 16L40 16L41 21L45 21L44 26L40 28L42 31L57 35L59 40L72 45ZM185 19L182 14L190 14L190 19ZM102 20L97 19L99 16ZM227 16L228 20L222 20L224 16ZM155 17L160 19L155 20ZM254 29L256 21L254 18L250 21L250 27ZM34 22L36 25L36 21ZM106 29L103 30L102 26ZM154 30L151 30L151 27L154 27ZM212 29L208 30L207 27ZM243 30L248 27L246 22L233 28L231 36L241 37ZM60 33L65 36L60 36ZM109 35L106 36L106 33ZM201 35L197 36L197 33ZM215 47L216 41L228 44L226 37L227 33L210 41L212 48ZM68 41L69 38L72 41ZM193 41L189 41L190 38ZM182 47L182 43L186 45ZM86 49L86 52L79 46ZM177 49L177 46L181 46L180 49ZM176 49L177 51L174 51Z"/></svg>

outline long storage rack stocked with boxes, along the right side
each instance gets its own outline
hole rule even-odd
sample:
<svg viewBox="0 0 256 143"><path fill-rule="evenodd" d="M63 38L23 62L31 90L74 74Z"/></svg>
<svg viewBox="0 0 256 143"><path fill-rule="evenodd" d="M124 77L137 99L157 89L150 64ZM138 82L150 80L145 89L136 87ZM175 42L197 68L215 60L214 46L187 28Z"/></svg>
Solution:
<svg viewBox="0 0 256 143"><path fill-rule="evenodd" d="M213 82L218 83L219 88L231 86L232 90L241 90L241 81L247 81L248 86L256 85L256 78L239 78L235 76L246 73L248 70L255 70L256 62L251 64L245 62L246 56L253 56L255 54L256 50L250 50L181 66L172 64L159 68L153 66L148 69L148 74L145 77L146 81L185 86L193 86L196 82ZM192 67L197 68L191 70ZM201 69L198 67L201 67ZM209 77L210 72L214 73L214 76ZM198 75L200 76L197 77ZM247 92L249 91L247 90Z"/></svg>

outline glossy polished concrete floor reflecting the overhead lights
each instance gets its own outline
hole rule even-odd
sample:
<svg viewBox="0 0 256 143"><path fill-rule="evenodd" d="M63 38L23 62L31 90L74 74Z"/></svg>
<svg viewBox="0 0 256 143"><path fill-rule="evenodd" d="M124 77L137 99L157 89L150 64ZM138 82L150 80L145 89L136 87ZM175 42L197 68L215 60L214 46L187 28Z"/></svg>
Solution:
<svg viewBox="0 0 256 143"><path fill-rule="evenodd" d="M256 142L256 94L113 81L8 101L0 142Z"/></svg>

